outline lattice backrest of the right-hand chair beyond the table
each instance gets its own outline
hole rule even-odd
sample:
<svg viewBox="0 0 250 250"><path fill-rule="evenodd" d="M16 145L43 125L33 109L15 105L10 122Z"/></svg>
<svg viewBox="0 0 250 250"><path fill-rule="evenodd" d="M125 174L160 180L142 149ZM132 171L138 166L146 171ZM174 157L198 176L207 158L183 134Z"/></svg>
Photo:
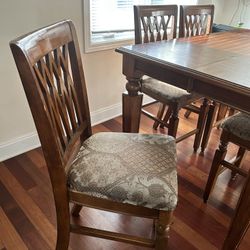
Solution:
<svg viewBox="0 0 250 250"><path fill-rule="evenodd" d="M214 5L181 5L179 37L209 34L213 19Z"/></svg>

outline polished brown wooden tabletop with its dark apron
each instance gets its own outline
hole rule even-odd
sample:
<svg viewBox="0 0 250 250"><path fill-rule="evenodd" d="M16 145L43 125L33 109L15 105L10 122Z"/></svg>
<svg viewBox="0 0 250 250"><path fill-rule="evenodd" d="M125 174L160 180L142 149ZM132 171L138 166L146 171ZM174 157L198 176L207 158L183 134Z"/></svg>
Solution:
<svg viewBox="0 0 250 250"><path fill-rule="evenodd" d="M116 51L126 59L123 74L128 81L148 75L249 113L249 37L249 30L238 29ZM134 74L131 67L126 69L128 64L134 65Z"/></svg>

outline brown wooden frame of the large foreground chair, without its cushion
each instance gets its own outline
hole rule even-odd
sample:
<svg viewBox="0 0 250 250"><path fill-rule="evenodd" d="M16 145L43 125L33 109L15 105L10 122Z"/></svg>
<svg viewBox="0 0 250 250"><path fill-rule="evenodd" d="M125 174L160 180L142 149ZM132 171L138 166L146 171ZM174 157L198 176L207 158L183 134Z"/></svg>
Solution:
<svg viewBox="0 0 250 250"><path fill-rule="evenodd" d="M61 46L66 47L63 47L64 49L60 52L58 48ZM73 23L67 20L44 27L11 41L10 47L31 108L50 175L57 217L56 249L68 249L70 232L140 246L156 247L156 249L166 249L172 211L149 209L90 197L82 193L70 191L67 187L67 172L69 166L82 142L92 135L86 84L82 70L80 49ZM70 84L68 78L68 69L65 66L67 60L59 55L60 53L66 53L65 51L67 50L74 85ZM53 58L49 55L52 51L56 51ZM46 63L44 64L46 65L42 65L39 61L44 57L46 60L48 59L48 61L45 60ZM37 62L40 63L38 64ZM65 79L67 79L66 85L68 89L67 91L62 91L61 94L55 94L53 88L48 87L49 84L46 82L53 81L46 67L51 67L57 74L60 74L61 70L57 71L57 67L55 66L58 62L60 62L61 70L63 71L62 74L67 74L67 78ZM36 70L36 67L38 67L36 66L37 64L42 67L42 72L45 75L42 80L39 78L40 73ZM43 84L47 84L47 87L41 87ZM65 84L65 82L63 84ZM58 88L61 87L62 85ZM53 108L50 106L52 100L47 98L47 91L50 92L50 94L52 93L53 100L56 100L56 105ZM66 92L67 94L65 94ZM68 108L68 113L65 113L63 111L63 105L70 107L70 102L74 102L75 111ZM58 113L59 111L61 112L60 115ZM75 116L77 116L77 121L74 121ZM68 126L67 121L65 121L69 119L69 117L71 122L73 121L72 127ZM61 123L66 124L65 131L63 132L60 130L60 122L59 124L56 123L58 119ZM66 136L62 136L62 134L66 134ZM155 237L154 239L145 239L80 225L70 225L70 202L75 204L72 209L73 216L79 216L82 205L84 205L106 211L151 218L155 223Z"/></svg>

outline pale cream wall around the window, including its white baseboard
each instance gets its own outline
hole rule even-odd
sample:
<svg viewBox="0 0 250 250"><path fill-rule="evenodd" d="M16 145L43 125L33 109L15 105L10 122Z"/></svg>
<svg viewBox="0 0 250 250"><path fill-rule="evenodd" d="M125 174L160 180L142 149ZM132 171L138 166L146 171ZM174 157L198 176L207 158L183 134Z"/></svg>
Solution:
<svg viewBox="0 0 250 250"><path fill-rule="evenodd" d="M215 22L225 24L230 20L236 2L236 0L199 0L202 4L214 3ZM236 14L239 17L240 12ZM237 15L234 22L238 18ZM8 43L21 34L68 18L75 23L82 49L82 0L1 0L0 2L0 161L39 145ZM125 78L121 73L121 55L114 50L107 50L83 54L82 58L93 121L101 121L119 114L121 93L125 85Z"/></svg>

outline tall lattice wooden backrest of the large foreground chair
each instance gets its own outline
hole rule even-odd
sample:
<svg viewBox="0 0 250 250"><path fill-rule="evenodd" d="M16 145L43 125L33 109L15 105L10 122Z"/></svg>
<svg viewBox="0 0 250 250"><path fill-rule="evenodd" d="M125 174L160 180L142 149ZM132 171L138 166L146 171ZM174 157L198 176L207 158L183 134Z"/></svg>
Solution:
<svg viewBox="0 0 250 250"><path fill-rule="evenodd" d="M87 92L71 21L10 42L52 179L91 135ZM62 175L63 176L63 175ZM53 181L52 181L53 185Z"/></svg>

